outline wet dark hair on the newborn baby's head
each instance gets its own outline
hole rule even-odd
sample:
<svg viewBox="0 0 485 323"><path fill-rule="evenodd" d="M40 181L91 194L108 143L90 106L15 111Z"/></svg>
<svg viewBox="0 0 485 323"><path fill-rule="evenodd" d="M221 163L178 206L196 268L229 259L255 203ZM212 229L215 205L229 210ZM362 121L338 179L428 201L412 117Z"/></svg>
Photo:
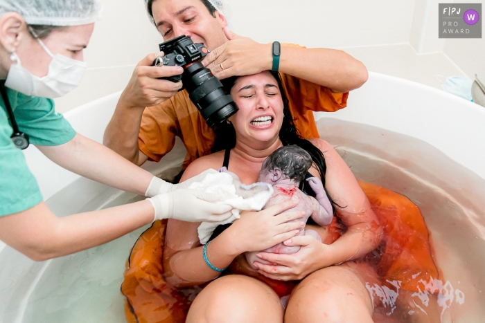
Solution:
<svg viewBox="0 0 485 323"><path fill-rule="evenodd" d="M296 183L305 179L308 169L312 166L312 157L305 149L296 145L283 146L276 149L263 162L263 169L268 171L279 168L281 172Z"/></svg>

